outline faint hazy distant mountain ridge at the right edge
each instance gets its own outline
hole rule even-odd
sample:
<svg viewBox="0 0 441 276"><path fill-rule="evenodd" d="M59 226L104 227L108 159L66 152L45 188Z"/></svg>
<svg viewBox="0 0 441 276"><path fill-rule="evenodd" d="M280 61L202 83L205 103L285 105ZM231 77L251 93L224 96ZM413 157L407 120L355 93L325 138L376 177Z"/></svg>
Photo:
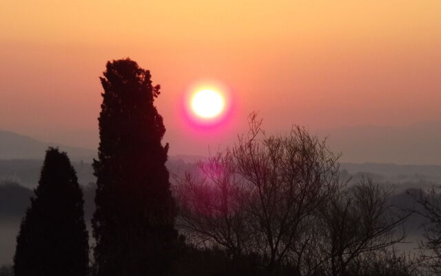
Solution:
<svg viewBox="0 0 441 276"><path fill-rule="evenodd" d="M322 131L342 162L441 165L441 121L411 126L348 126Z"/></svg>

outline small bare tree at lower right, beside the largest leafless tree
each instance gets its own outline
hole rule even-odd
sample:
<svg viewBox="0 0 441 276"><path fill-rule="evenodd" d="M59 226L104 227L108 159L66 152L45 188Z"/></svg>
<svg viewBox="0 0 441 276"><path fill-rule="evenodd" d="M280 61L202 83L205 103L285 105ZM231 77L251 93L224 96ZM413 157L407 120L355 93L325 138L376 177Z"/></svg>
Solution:
<svg viewBox="0 0 441 276"><path fill-rule="evenodd" d="M348 275L347 267L353 267L358 257L402 242L405 232L398 226L411 213L391 205L390 192L371 179L362 179L321 210L328 275Z"/></svg>

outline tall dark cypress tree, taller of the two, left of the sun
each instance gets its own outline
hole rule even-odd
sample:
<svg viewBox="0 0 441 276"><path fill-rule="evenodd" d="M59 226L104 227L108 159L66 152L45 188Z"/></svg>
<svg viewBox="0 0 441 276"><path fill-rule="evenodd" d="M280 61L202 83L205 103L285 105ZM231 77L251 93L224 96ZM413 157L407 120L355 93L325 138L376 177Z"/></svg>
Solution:
<svg viewBox="0 0 441 276"><path fill-rule="evenodd" d="M107 62L99 117L95 275L166 275L177 233L159 86L131 59Z"/></svg>

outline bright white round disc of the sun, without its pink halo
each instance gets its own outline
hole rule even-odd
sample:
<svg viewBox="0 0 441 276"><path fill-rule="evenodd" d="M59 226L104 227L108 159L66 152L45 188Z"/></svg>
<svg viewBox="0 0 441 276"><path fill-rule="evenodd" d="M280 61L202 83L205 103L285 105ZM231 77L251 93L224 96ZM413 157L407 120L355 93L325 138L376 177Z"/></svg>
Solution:
<svg viewBox="0 0 441 276"><path fill-rule="evenodd" d="M193 112L205 119L214 118L223 111L225 102L219 92L204 89L194 93L191 101Z"/></svg>

